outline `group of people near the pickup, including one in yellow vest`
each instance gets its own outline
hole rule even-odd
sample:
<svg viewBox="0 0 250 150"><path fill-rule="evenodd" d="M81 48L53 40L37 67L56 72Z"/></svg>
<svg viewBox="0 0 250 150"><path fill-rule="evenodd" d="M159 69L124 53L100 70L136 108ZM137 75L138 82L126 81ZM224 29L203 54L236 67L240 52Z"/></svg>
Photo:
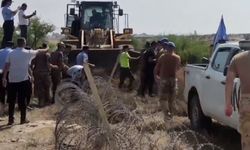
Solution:
<svg viewBox="0 0 250 150"><path fill-rule="evenodd" d="M174 113L173 102L176 94L177 71L181 65L181 58L175 53L175 49L175 44L165 38L158 42L146 43L141 56L137 58L131 57L128 53L129 47L124 46L119 57L119 88L123 88L124 80L128 78L128 90L132 89L135 79L131 73L130 60L141 58L138 96L144 99L146 91L150 97L154 97L158 93L165 118L171 118ZM158 86L154 88L154 85Z"/></svg>

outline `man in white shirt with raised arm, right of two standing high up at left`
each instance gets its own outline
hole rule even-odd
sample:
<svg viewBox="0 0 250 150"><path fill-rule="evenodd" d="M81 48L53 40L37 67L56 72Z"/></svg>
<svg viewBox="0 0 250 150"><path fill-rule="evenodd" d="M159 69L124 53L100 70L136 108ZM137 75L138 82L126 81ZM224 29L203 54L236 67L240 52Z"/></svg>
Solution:
<svg viewBox="0 0 250 150"><path fill-rule="evenodd" d="M21 30L21 37L27 40L29 19L36 15L36 11L34 11L31 15L25 15L26 9L27 9L27 4L23 3L18 13L18 19L19 19L19 28Z"/></svg>

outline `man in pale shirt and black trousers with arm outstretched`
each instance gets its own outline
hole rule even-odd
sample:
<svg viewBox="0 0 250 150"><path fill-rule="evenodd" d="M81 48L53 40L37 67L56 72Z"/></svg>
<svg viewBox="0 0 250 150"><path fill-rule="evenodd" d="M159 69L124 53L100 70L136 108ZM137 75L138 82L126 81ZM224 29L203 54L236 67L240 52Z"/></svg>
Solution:
<svg viewBox="0 0 250 150"><path fill-rule="evenodd" d="M26 93L29 88L29 64L30 61L36 56L38 52L47 52L48 49L43 50L26 50L24 47L26 40L19 38L17 40L17 48L9 53L6 59L4 74L3 74L3 86L7 84L7 72L9 72L9 84L8 84L8 102L9 102L9 123L14 123L14 108L16 99L18 101L18 107L21 111L21 124L28 123L26 120Z"/></svg>

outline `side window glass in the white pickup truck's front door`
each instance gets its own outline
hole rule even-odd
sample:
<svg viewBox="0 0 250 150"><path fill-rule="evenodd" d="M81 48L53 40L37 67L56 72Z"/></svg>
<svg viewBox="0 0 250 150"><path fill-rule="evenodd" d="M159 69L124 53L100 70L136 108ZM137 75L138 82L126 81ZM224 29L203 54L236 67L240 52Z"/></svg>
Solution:
<svg viewBox="0 0 250 150"><path fill-rule="evenodd" d="M218 72L224 72L224 68L227 65L228 57L231 53L231 48L220 48L212 63L212 68Z"/></svg>

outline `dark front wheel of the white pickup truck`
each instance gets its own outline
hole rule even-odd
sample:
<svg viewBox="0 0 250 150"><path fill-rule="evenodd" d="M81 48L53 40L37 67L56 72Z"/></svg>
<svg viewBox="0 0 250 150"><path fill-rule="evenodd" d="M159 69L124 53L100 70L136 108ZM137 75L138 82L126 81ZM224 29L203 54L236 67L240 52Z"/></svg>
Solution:
<svg viewBox="0 0 250 150"><path fill-rule="evenodd" d="M194 130L210 128L211 126L212 120L203 114L199 97L197 95L193 96L189 103L189 117L191 128Z"/></svg>

